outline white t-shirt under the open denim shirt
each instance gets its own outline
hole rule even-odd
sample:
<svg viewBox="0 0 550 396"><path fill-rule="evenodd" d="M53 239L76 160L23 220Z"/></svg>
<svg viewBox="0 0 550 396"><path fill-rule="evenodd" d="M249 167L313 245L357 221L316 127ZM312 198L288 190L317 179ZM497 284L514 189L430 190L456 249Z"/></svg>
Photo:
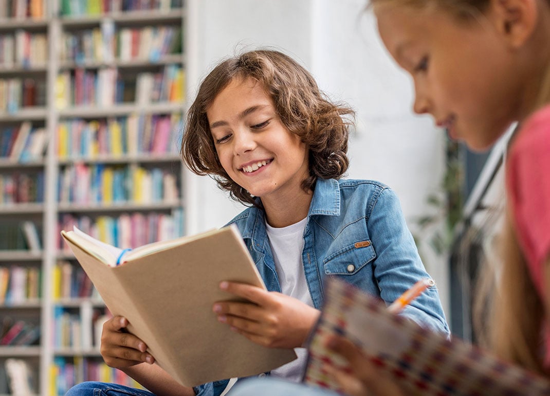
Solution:
<svg viewBox="0 0 550 396"><path fill-rule="evenodd" d="M313 306L302 263L306 223L307 217L298 223L283 228L274 228L266 223L266 230L273 252L279 284L281 284L281 292ZM271 370L273 377L282 377L293 382L299 382L302 379L307 350L305 348L294 348L294 351L298 355L298 359Z"/></svg>

